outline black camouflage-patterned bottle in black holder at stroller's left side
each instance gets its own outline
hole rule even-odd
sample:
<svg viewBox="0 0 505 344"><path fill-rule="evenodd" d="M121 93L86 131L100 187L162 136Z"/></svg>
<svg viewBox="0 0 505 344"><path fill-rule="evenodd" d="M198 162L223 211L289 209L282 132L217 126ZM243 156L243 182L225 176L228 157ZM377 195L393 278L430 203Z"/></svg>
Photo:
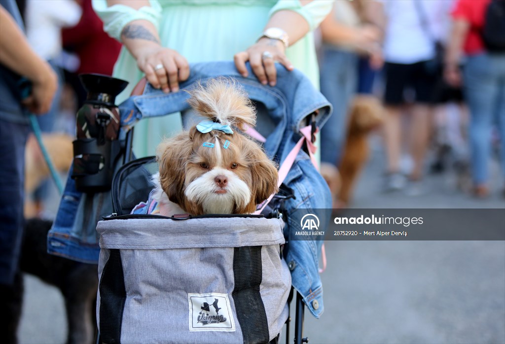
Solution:
<svg viewBox="0 0 505 344"><path fill-rule="evenodd" d="M104 192L111 189L121 153L121 118L114 102L128 82L100 74L81 74L79 79L87 97L77 111L72 178L78 191Z"/></svg>

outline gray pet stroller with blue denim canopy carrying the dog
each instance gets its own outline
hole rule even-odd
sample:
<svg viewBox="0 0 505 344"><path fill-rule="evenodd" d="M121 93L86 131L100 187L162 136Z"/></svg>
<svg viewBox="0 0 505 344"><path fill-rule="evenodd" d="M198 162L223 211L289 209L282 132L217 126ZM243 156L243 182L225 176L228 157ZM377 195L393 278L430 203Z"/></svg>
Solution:
<svg viewBox="0 0 505 344"><path fill-rule="evenodd" d="M329 116L329 103L296 71L278 68L274 88L254 77L241 77L231 62L196 64L191 71L181 88L196 81L205 85L217 76L233 78L244 87L257 107L257 130L267 138L265 150L280 165L304 137L310 146ZM138 94L119 105L117 154L105 159L100 152L80 155L93 155L95 165L115 166L113 215L96 226L99 339L266 343L277 342L286 323L289 342L289 304L296 294L294 340L307 341L302 335L305 309L316 317L323 311L318 262L324 238L291 240L301 224L289 211L304 208L328 223L331 208L328 187L311 162L310 149L298 147L281 192L263 212L266 217L129 215L134 205L147 199L149 177L157 170L152 158L133 159L131 127L141 118L188 108L186 92L164 94L147 84ZM302 127L309 129L305 136L300 134ZM74 160L74 166L78 163ZM76 184L85 180L85 168L74 179ZM84 194L81 202L93 197ZM55 223L57 228L58 217Z"/></svg>

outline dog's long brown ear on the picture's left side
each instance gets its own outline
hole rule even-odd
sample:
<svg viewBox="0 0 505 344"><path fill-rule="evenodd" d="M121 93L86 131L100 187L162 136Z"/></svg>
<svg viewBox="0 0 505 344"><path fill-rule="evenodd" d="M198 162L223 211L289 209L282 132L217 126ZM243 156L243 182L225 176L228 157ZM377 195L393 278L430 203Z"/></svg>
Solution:
<svg viewBox="0 0 505 344"><path fill-rule="evenodd" d="M156 149L160 169L160 184L170 201L182 206L186 163L192 143L187 132L162 141Z"/></svg>

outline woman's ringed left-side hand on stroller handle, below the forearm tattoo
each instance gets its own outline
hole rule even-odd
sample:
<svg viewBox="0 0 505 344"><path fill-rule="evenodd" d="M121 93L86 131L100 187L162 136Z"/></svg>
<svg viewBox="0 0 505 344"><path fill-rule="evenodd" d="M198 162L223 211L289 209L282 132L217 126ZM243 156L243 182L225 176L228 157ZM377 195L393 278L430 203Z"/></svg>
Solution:
<svg viewBox="0 0 505 344"><path fill-rule="evenodd" d="M137 66L153 87L165 93L178 91L179 82L189 77L189 65L184 56L162 46L141 50L137 54Z"/></svg>

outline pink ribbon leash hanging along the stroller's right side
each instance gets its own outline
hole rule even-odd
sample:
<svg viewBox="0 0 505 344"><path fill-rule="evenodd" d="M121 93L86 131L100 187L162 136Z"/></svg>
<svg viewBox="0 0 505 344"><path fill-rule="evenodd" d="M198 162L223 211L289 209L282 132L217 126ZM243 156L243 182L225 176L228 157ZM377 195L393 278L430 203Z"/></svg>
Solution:
<svg viewBox="0 0 505 344"><path fill-rule="evenodd" d="M265 143L267 141L267 139L265 139L265 137L263 137L263 135L258 133L255 129L247 128L245 130L245 133L260 142ZM298 140L298 142L293 147L293 149L291 149L291 151L289 152L289 154L286 156L286 158L284 159L284 161L282 162L282 164L279 167L279 181L277 182L277 187L280 187L281 184L286 179L287 174L288 174L289 170L291 169L291 166L293 166L294 160L296 159L296 156L298 155L298 152L300 151L300 149L304 145L304 143L307 144L309 156L311 158L312 163L314 164L314 167L316 167L316 169L319 171L319 166L318 166L316 157L314 155L316 153L317 147L314 145L314 143L311 140L312 126L307 126L307 127L301 128L300 133L301 133L302 137ZM316 133L317 133L317 131L316 131ZM265 202L262 203L261 208L256 210L256 212L254 214L255 215L261 214L263 209L265 209L267 204L270 203L270 201L272 200L272 198L274 196L275 196L275 194L270 195L270 197ZM323 243L323 246L321 247L321 256L322 256L323 268L319 269L319 273L324 272L324 270L326 270L326 263L327 262L326 262L326 250L324 248L324 243Z"/></svg>

